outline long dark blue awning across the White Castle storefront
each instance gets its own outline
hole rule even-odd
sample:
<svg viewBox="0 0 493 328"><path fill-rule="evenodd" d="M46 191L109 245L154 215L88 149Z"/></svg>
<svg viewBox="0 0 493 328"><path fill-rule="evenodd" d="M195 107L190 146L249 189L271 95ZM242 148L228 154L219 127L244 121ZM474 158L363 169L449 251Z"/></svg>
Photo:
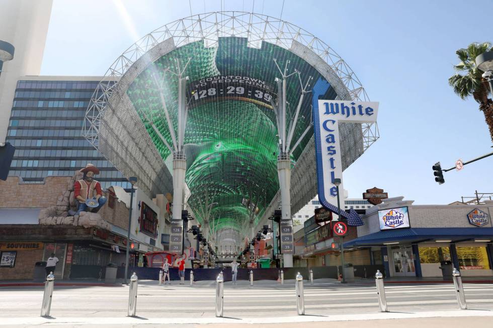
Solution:
<svg viewBox="0 0 493 328"><path fill-rule="evenodd" d="M344 243L344 248L361 246L382 246L383 243L405 241L420 243L434 240L451 240L452 242L473 239L493 239L493 228L410 228L383 230Z"/></svg>

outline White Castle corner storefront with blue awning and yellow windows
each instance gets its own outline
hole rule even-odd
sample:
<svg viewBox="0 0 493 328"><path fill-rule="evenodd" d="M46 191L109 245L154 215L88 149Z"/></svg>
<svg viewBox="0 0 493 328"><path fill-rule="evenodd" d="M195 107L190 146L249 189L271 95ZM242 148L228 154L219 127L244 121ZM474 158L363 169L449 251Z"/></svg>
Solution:
<svg viewBox="0 0 493 328"><path fill-rule="evenodd" d="M413 205L388 198L362 216L358 238L345 248L368 248L387 276L493 276L493 201L485 204Z"/></svg>

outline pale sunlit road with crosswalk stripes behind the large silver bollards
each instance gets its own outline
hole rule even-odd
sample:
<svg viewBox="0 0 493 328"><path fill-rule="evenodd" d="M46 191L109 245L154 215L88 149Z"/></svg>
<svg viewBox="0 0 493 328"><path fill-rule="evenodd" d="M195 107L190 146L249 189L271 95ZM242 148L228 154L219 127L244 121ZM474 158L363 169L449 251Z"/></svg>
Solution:
<svg viewBox="0 0 493 328"><path fill-rule="evenodd" d="M38 287L0 288L0 326L31 326L42 323L80 325L159 325L197 323L275 323L292 326L297 322L360 320L415 320L430 317L474 317L493 319L493 284L466 284L468 310L458 310L452 284L409 284L385 287L389 313L378 312L374 285L305 283L305 314L296 312L294 283L281 285L231 286L224 288L224 318L215 317L214 284L201 286L163 285L142 282L138 287L137 315L127 315L128 286L57 287L51 316L41 318L43 289ZM492 317L489 317L492 316ZM489 317L489 318L488 318ZM430 319L431 320L431 319ZM361 322L361 321L360 321ZM376 322L376 321L375 321ZM468 321L470 322L470 321ZM310 325L303 324L303 327Z"/></svg>

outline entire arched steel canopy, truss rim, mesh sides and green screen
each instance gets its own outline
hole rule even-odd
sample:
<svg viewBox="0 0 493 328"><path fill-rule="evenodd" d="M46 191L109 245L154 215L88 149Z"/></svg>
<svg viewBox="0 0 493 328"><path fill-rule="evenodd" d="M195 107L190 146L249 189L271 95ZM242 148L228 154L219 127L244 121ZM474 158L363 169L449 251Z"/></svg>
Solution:
<svg viewBox="0 0 493 328"><path fill-rule="evenodd" d="M288 84L290 118L300 97L300 82L310 77L331 84L327 98L368 100L357 77L332 48L290 23L253 13L219 12L167 24L113 63L94 93L83 128L90 143L126 176L137 176L139 187L149 194L173 190L171 154L151 123L167 143L173 142L166 129L167 120L176 127L178 80L173 71L187 62L190 82L240 75L274 84L280 77L277 63L297 70L299 82L292 78ZM118 83L108 83L118 77ZM189 104L194 91L190 90ZM311 97L306 98L294 141L311 120ZM163 106L170 118L163 116ZM199 220L209 220L213 230L222 230L223 238L227 230L234 240L246 235L244 222L252 211L258 221L278 207L276 117L268 107L225 97L198 102L188 112L184 136L188 204ZM376 125L341 124L340 131L344 168L378 139ZM291 154L293 212L316 193L312 135L302 138ZM214 203L208 217L200 217L200 208Z"/></svg>

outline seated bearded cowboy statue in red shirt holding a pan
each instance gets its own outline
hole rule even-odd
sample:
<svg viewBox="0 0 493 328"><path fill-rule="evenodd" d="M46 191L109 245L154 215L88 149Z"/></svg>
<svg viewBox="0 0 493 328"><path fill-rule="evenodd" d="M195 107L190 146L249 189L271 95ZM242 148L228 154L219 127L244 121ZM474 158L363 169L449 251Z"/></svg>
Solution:
<svg viewBox="0 0 493 328"><path fill-rule="evenodd" d="M99 169L93 164L88 164L79 172L84 173L84 177L73 184L73 194L78 201L78 206L76 212L68 211L68 214L72 216L79 215L82 211L88 211L88 207L90 211L97 212L106 203L101 184L94 180L94 176L99 174Z"/></svg>

